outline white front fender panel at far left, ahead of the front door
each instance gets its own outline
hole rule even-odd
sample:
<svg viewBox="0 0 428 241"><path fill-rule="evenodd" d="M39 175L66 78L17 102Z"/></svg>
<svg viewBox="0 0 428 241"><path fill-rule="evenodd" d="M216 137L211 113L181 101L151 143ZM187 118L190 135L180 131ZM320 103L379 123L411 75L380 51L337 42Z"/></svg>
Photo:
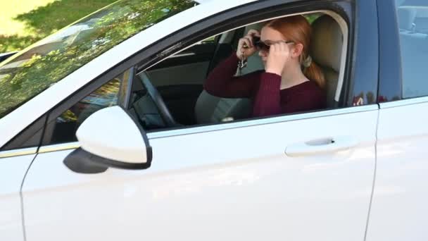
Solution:
<svg viewBox="0 0 428 241"><path fill-rule="evenodd" d="M34 156L0 159L0 240L24 241L20 187Z"/></svg>

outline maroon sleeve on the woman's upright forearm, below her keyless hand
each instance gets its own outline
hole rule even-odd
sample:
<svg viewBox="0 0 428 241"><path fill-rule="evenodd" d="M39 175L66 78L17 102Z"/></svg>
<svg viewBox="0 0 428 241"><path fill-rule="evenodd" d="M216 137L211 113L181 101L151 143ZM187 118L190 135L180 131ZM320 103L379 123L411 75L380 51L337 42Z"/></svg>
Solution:
<svg viewBox="0 0 428 241"><path fill-rule="evenodd" d="M274 73L262 73L260 84L253 103L253 116L271 116L282 113L281 76Z"/></svg>

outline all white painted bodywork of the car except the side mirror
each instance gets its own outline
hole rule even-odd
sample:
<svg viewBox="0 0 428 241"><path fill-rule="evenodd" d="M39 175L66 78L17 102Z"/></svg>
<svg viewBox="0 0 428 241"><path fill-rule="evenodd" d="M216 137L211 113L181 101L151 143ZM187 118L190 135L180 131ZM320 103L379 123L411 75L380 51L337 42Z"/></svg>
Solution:
<svg viewBox="0 0 428 241"><path fill-rule="evenodd" d="M0 146L164 35L149 28L2 118ZM427 240L428 99L419 100L156 132L141 171L78 174L63 164L72 150L41 153L23 184L24 214L19 190L35 155L0 159L0 240L364 240L367 220L366 240ZM313 148L325 140L336 142Z"/></svg>

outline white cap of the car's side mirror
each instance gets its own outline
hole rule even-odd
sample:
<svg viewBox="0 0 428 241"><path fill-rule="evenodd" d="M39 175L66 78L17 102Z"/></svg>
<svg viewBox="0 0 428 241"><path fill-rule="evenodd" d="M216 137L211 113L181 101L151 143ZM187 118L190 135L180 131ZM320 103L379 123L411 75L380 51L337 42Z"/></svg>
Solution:
<svg viewBox="0 0 428 241"><path fill-rule="evenodd" d="M76 137L82 149L97 156L127 163L147 162L143 136L119 106L89 116L77 129Z"/></svg>

